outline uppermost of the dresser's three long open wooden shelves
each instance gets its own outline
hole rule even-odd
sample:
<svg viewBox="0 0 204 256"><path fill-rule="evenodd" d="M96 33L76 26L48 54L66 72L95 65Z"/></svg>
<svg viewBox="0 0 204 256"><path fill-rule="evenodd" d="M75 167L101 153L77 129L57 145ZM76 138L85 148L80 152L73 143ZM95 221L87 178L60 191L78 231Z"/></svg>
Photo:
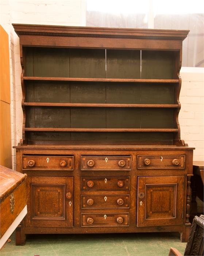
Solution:
<svg viewBox="0 0 204 256"><path fill-rule="evenodd" d="M115 79L115 78L65 78L24 76L23 80L73 81L73 82L132 82L132 83L178 83L179 79Z"/></svg>

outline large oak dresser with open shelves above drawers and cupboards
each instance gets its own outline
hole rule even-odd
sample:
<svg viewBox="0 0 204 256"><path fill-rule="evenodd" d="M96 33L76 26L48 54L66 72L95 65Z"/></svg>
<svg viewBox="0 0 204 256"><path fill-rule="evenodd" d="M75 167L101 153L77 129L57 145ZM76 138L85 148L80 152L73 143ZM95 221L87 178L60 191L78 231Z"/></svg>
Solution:
<svg viewBox="0 0 204 256"><path fill-rule="evenodd" d="M14 29L24 115L16 161L29 188L16 236L178 231L186 241L193 148L178 113L188 31Z"/></svg>

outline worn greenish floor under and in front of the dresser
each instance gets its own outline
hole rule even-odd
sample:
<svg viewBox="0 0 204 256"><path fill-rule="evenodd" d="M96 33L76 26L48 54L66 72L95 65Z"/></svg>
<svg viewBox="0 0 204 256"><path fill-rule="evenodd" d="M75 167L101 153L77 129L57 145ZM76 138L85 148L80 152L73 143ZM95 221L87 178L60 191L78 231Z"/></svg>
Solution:
<svg viewBox="0 0 204 256"><path fill-rule="evenodd" d="M15 246L15 234L0 256L168 256L170 247L184 254L178 233L29 235Z"/></svg>

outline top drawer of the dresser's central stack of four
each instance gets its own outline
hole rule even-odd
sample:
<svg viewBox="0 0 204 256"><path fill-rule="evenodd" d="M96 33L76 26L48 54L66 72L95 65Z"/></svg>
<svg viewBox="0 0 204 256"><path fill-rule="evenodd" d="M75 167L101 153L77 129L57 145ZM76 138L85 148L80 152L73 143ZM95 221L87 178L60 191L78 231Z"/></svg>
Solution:
<svg viewBox="0 0 204 256"><path fill-rule="evenodd" d="M131 170L131 157L82 155L81 170Z"/></svg>

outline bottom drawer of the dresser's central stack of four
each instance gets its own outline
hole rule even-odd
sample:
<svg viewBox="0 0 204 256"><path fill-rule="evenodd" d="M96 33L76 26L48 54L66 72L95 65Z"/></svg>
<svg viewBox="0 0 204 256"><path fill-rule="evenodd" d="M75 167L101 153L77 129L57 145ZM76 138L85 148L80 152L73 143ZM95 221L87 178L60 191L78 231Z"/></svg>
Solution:
<svg viewBox="0 0 204 256"><path fill-rule="evenodd" d="M82 227L129 226L128 213L81 214Z"/></svg>

